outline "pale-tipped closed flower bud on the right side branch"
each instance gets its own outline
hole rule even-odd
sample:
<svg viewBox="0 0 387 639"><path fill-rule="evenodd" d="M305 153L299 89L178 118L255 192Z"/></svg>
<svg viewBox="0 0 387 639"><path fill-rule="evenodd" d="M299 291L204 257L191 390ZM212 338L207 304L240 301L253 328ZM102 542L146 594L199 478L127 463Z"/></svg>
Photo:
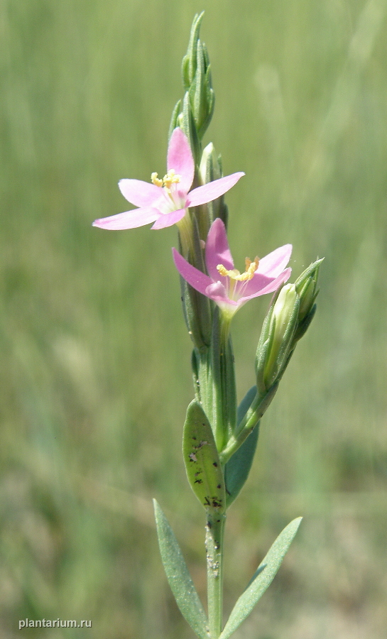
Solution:
<svg viewBox="0 0 387 639"><path fill-rule="evenodd" d="M271 309L271 317L268 325L268 338L263 344L265 352L264 361L257 353L257 384L266 389L275 383L285 370L293 346L293 336L298 325L298 312L300 310L300 297L294 284L287 284L281 288L280 293ZM258 370L261 368L261 370ZM262 371L263 368L263 371ZM262 380L263 377L263 380ZM261 378L261 379L260 379Z"/></svg>

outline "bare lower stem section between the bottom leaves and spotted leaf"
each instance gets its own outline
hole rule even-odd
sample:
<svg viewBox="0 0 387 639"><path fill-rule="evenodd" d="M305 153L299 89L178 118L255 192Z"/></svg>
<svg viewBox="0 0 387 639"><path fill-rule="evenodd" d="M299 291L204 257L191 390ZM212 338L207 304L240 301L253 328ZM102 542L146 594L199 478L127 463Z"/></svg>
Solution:
<svg viewBox="0 0 387 639"><path fill-rule="evenodd" d="M223 537L226 515L207 510L207 601L209 636L218 639L223 616Z"/></svg>

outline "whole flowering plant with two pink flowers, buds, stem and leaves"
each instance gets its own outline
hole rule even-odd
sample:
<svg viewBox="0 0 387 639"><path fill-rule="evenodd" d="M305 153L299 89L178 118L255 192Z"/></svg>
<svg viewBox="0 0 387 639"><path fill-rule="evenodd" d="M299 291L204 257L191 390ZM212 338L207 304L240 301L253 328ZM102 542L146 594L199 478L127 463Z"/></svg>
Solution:
<svg viewBox="0 0 387 639"><path fill-rule="evenodd" d="M202 137L214 111L207 48L200 41L203 14L195 16L182 61L185 96L170 123L167 173L151 182L121 180L119 188L136 209L97 219L94 226L122 230L153 224L178 226L182 307L193 342L195 399L187 408L182 452L187 479L205 509L207 613L197 594L172 528L154 501L161 559L175 600L200 639L228 639L252 611L276 575L300 525L296 518L280 532L248 586L223 623L223 542L227 508L249 475L261 417L278 390L298 340L315 315L320 262L294 284L288 261L290 244L253 261L240 273L227 240L224 193L244 173L222 175L220 156ZM192 188L192 185L194 188ZM234 354L229 331L236 310L254 297L273 293L256 351L256 379L236 402Z"/></svg>

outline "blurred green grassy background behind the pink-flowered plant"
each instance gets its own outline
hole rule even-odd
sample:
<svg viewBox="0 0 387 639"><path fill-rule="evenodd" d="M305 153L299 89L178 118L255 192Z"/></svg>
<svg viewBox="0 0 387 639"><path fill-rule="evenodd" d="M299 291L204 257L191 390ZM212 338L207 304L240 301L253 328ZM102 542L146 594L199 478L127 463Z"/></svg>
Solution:
<svg viewBox="0 0 387 639"><path fill-rule="evenodd" d="M205 596L204 518L180 453L190 340L176 229L107 232L116 183L165 168L195 12L243 265L325 256L317 317L229 512L229 612L304 515L236 639L384 639L387 626L386 0L2 0L0 635L190 639L158 498ZM163 174L163 173L162 173ZM239 397L268 297L233 323ZM87 630L18 630L22 618Z"/></svg>

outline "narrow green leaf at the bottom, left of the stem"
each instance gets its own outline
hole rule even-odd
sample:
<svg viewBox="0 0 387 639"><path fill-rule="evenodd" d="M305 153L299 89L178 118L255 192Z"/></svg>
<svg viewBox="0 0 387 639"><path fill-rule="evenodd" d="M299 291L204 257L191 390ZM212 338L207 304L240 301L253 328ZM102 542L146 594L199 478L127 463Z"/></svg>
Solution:
<svg viewBox="0 0 387 639"><path fill-rule="evenodd" d="M208 639L207 616L182 556L178 540L156 499L153 499L153 506L161 560L170 589L182 616L190 624L192 630L200 639Z"/></svg>

